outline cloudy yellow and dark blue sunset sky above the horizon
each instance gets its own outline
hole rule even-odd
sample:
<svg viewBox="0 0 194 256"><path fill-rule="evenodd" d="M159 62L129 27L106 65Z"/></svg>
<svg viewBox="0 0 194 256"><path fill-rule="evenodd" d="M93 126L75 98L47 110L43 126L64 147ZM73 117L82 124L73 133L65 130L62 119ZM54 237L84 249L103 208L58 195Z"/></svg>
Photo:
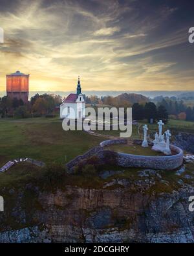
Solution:
<svg viewBox="0 0 194 256"><path fill-rule="evenodd" d="M31 91L193 90L190 2L0 0L0 91L16 70Z"/></svg>

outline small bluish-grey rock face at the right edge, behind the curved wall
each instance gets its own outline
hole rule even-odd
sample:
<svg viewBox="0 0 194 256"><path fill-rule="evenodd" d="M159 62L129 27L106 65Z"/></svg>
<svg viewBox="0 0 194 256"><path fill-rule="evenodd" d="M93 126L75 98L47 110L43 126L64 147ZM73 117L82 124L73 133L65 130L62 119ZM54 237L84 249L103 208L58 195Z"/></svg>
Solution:
<svg viewBox="0 0 194 256"><path fill-rule="evenodd" d="M175 141L173 141L173 144L194 154L194 134L179 132L175 135Z"/></svg>

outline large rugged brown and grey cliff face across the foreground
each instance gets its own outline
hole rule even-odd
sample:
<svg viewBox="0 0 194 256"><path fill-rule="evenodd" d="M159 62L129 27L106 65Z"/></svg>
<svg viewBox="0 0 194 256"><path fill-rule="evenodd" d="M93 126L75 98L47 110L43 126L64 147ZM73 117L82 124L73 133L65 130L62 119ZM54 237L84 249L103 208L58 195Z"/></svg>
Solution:
<svg viewBox="0 0 194 256"><path fill-rule="evenodd" d="M170 186L162 176L140 171L135 181L114 177L102 189L27 187L29 197L12 190L0 242L194 242L193 183L178 180L177 189L156 193Z"/></svg>

